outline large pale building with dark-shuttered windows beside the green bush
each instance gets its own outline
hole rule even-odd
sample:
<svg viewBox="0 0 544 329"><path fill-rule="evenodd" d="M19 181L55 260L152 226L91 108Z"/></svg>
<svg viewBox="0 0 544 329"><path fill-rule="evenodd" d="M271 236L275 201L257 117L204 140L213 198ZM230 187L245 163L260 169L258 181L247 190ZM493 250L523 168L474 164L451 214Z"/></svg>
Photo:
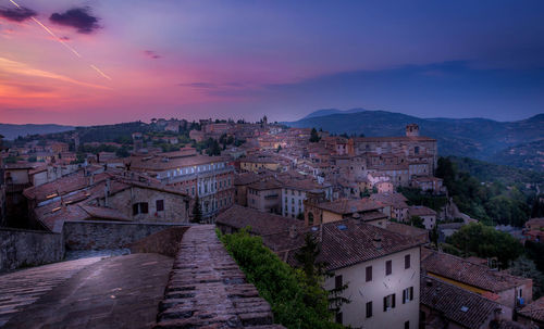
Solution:
<svg viewBox="0 0 544 329"><path fill-rule="evenodd" d="M320 245L318 261L331 277L324 288L347 283L336 321L355 328L419 328L421 242L360 220L344 219L263 236L263 243L292 266L305 232Z"/></svg>

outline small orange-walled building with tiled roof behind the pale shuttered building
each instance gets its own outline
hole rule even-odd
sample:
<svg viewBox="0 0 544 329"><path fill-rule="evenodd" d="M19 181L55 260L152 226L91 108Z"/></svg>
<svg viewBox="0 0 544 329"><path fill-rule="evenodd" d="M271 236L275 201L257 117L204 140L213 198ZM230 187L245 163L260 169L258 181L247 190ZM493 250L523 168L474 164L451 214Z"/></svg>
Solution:
<svg viewBox="0 0 544 329"><path fill-rule="evenodd" d="M310 198L304 204L307 226L357 218L360 222L385 227L385 222L390 218L388 207L370 199L323 201Z"/></svg>

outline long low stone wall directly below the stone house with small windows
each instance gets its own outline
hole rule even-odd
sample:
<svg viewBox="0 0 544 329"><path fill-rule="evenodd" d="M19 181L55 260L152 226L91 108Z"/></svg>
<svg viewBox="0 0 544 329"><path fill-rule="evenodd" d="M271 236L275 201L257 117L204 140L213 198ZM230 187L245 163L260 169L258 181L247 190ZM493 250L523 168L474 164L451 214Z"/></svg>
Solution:
<svg viewBox="0 0 544 329"><path fill-rule="evenodd" d="M152 233L183 226L166 223L65 222L63 233L69 250L103 250L128 248Z"/></svg>

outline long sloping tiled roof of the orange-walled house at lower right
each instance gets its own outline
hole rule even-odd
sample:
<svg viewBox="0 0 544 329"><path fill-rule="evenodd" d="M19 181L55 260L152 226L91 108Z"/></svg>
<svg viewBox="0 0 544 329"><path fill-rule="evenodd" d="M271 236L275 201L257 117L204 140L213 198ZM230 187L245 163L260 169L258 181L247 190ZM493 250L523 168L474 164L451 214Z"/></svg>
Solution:
<svg viewBox="0 0 544 329"><path fill-rule="evenodd" d="M473 264L461 257L430 249L423 249L423 253L426 255L421 257L421 268L428 273L494 293L524 284L531 280L509 275L506 271L493 270L485 265Z"/></svg>

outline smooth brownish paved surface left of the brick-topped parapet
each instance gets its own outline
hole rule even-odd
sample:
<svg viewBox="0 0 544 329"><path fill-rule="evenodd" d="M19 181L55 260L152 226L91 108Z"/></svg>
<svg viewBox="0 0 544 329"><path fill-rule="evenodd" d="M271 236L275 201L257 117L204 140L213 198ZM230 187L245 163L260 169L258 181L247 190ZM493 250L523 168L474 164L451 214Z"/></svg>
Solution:
<svg viewBox="0 0 544 329"><path fill-rule="evenodd" d="M91 258L81 261L87 260ZM96 262L15 314L3 328L150 328L172 264L159 254Z"/></svg>

